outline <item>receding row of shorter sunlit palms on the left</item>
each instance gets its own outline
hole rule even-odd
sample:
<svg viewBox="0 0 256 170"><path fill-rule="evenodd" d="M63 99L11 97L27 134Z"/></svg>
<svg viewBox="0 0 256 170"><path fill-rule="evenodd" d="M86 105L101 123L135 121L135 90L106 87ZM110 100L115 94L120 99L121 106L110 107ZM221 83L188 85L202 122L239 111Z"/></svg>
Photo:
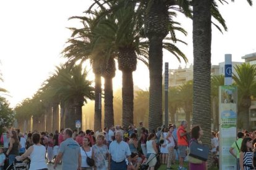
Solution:
<svg viewBox="0 0 256 170"><path fill-rule="evenodd" d="M94 87L87 76L88 71L82 65L56 67L32 99L25 99L15 107L16 119L21 125L27 120L31 126L32 117L34 130L53 132L59 129L59 121L61 127L74 128L75 120L82 120L82 106L94 98Z"/></svg>

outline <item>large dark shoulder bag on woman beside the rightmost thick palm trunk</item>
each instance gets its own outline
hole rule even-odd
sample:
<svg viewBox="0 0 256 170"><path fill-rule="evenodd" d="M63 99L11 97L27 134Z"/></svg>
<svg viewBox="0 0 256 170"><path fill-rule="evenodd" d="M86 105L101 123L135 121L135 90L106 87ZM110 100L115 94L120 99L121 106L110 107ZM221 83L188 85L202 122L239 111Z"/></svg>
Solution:
<svg viewBox="0 0 256 170"><path fill-rule="evenodd" d="M195 139L191 139L190 141L189 156L197 158L198 160L207 161L210 148L205 145L198 144Z"/></svg>

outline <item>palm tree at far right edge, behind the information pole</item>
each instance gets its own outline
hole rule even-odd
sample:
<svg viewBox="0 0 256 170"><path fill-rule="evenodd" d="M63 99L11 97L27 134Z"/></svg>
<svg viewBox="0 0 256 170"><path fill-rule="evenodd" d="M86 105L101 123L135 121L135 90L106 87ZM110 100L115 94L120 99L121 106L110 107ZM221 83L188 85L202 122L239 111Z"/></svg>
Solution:
<svg viewBox="0 0 256 170"><path fill-rule="evenodd" d="M233 74L233 79L238 89L238 119L242 119L242 127L249 129L249 108L251 105L251 97L252 95L255 95L256 92L256 66L250 65L249 63L242 63L242 65L236 65L235 70L237 75Z"/></svg>

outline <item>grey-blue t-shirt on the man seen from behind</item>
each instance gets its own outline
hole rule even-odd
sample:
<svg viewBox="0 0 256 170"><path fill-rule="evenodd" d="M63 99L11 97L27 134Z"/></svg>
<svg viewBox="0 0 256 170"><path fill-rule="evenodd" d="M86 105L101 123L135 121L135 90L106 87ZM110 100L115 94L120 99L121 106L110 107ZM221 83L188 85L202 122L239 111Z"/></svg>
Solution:
<svg viewBox="0 0 256 170"><path fill-rule="evenodd" d="M67 138L59 147L62 155L62 170L77 169L79 166L80 146L74 139Z"/></svg>

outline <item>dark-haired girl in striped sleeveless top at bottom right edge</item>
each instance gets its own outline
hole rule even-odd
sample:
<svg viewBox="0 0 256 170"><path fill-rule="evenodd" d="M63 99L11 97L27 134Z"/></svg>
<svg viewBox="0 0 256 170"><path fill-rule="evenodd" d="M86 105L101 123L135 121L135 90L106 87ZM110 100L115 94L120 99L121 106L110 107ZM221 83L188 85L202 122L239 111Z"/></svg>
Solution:
<svg viewBox="0 0 256 170"><path fill-rule="evenodd" d="M254 153L252 152L252 138L245 137L242 140L241 149L240 149L240 158L239 164L241 170L250 170L254 169Z"/></svg>

